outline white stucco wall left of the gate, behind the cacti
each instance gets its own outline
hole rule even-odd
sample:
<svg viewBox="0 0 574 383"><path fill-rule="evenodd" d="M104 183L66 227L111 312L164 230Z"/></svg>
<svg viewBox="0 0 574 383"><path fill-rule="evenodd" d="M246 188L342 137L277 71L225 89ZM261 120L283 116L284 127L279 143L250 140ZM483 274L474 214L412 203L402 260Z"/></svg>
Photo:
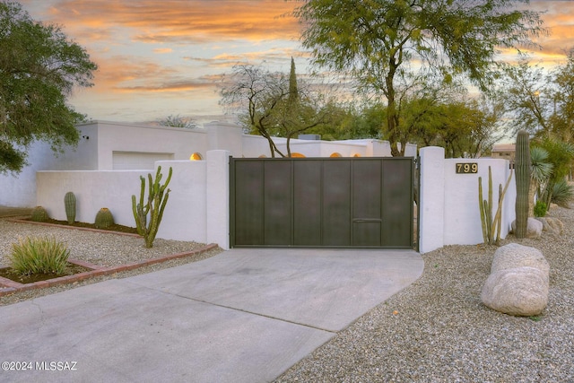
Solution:
<svg viewBox="0 0 574 383"><path fill-rule="evenodd" d="M206 161L157 161L165 183L170 167L170 198L157 238L218 243L229 248L229 152L206 153ZM151 172L155 178L155 171ZM57 220L65 220L64 196L76 196L76 221L94 222L96 213L108 207L115 222L135 226L132 195L140 198L139 170L39 171L38 205ZM210 206L207 209L208 201ZM209 218L208 218L209 217Z"/></svg>

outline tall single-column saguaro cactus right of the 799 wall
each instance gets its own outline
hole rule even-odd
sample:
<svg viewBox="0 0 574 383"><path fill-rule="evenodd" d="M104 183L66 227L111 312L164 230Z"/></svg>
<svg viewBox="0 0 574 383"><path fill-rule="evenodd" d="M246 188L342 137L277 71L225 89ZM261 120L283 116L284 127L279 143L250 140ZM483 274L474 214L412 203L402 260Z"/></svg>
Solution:
<svg viewBox="0 0 574 383"><path fill-rule="evenodd" d="M526 238L528 226L528 190L530 188L530 138L526 131L521 130L517 135L517 150L515 158L517 174L517 202L515 206L517 225L515 235L518 239Z"/></svg>

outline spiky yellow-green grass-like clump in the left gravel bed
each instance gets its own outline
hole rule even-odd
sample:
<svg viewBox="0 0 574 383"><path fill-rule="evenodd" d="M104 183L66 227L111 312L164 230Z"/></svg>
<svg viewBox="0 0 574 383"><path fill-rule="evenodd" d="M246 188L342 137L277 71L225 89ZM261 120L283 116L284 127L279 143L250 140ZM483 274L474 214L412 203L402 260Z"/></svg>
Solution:
<svg viewBox="0 0 574 383"><path fill-rule="evenodd" d="M8 260L17 274L64 274L70 250L49 237L26 237L12 244Z"/></svg>

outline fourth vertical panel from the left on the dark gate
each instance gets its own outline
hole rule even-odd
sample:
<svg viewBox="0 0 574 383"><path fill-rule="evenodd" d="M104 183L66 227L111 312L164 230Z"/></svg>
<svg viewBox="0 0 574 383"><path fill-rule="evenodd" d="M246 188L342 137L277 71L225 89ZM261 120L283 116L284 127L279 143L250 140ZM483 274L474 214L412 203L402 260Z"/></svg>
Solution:
<svg viewBox="0 0 574 383"><path fill-rule="evenodd" d="M323 161L323 246L351 245L351 161Z"/></svg>

